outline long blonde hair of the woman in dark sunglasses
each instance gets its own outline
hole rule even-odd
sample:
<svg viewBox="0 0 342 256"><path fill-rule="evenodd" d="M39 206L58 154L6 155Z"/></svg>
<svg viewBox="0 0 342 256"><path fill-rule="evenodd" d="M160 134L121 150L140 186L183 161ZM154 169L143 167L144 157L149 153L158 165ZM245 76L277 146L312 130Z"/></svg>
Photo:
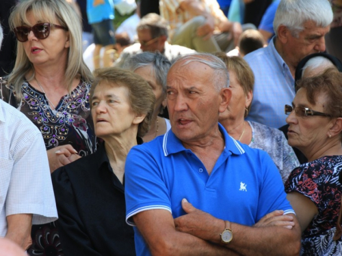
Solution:
<svg viewBox="0 0 342 256"><path fill-rule="evenodd" d="M48 23L55 23L56 19L62 27L68 28L70 47L68 48L68 59L65 71L66 87L71 92L73 80L77 76L87 83L93 80L92 73L86 66L82 57L82 25L81 19L73 8L65 0L27 0L16 5L10 14L10 28L12 31L15 27L29 24L27 13L32 12L37 20ZM8 83L12 84L16 92L16 98L21 100L21 86L25 81L25 75L32 72L32 76L27 78L28 81L34 78L35 71L33 64L27 57L22 42L18 42L16 51L16 63L14 69L8 77Z"/></svg>

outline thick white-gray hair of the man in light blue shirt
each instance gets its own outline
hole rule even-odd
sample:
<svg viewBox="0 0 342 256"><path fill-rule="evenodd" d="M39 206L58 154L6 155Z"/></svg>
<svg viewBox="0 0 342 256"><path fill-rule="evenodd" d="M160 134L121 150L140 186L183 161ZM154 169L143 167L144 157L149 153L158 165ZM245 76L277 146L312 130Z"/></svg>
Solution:
<svg viewBox="0 0 342 256"><path fill-rule="evenodd" d="M317 27L328 27L332 23L332 9L328 0L281 0L274 17L274 32L286 26L294 37L304 30L304 23L312 20Z"/></svg>

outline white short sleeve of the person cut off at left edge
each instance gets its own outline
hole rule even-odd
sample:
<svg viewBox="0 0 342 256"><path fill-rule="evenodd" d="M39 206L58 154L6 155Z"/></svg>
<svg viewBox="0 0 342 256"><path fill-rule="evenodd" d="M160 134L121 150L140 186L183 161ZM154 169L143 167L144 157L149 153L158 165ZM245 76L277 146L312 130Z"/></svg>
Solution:
<svg viewBox="0 0 342 256"><path fill-rule="evenodd" d="M31 134L16 134L12 145L12 174L6 197L6 216L33 214L34 225L57 219L49 161L42 135L32 124Z"/></svg>

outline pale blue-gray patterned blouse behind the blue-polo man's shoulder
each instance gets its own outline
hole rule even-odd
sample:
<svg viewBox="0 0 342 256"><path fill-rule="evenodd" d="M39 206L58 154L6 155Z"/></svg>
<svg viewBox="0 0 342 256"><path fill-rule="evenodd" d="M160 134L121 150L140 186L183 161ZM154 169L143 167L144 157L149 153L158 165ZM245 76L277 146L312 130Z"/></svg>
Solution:
<svg viewBox="0 0 342 256"><path fill-rule="evenodd" d="M248 123L252 128L252 141L249 146L263 150L271 156L282 177L282 183L285 183L291 171L300 165L285 135L276 128L257 122L248 121Z"/></svg>

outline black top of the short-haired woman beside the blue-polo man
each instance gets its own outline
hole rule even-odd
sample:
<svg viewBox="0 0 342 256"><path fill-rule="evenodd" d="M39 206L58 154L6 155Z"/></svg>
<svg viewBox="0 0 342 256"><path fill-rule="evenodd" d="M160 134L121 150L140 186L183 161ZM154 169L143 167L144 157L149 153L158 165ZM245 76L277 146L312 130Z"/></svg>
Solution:
<svg viewBox="0 0 342 256"><path fill-rule="evenodd" d="M125 221L124 186L109 165L105 143L54 171L52 182L65 256L135 255L134 231Z"/></svg>

